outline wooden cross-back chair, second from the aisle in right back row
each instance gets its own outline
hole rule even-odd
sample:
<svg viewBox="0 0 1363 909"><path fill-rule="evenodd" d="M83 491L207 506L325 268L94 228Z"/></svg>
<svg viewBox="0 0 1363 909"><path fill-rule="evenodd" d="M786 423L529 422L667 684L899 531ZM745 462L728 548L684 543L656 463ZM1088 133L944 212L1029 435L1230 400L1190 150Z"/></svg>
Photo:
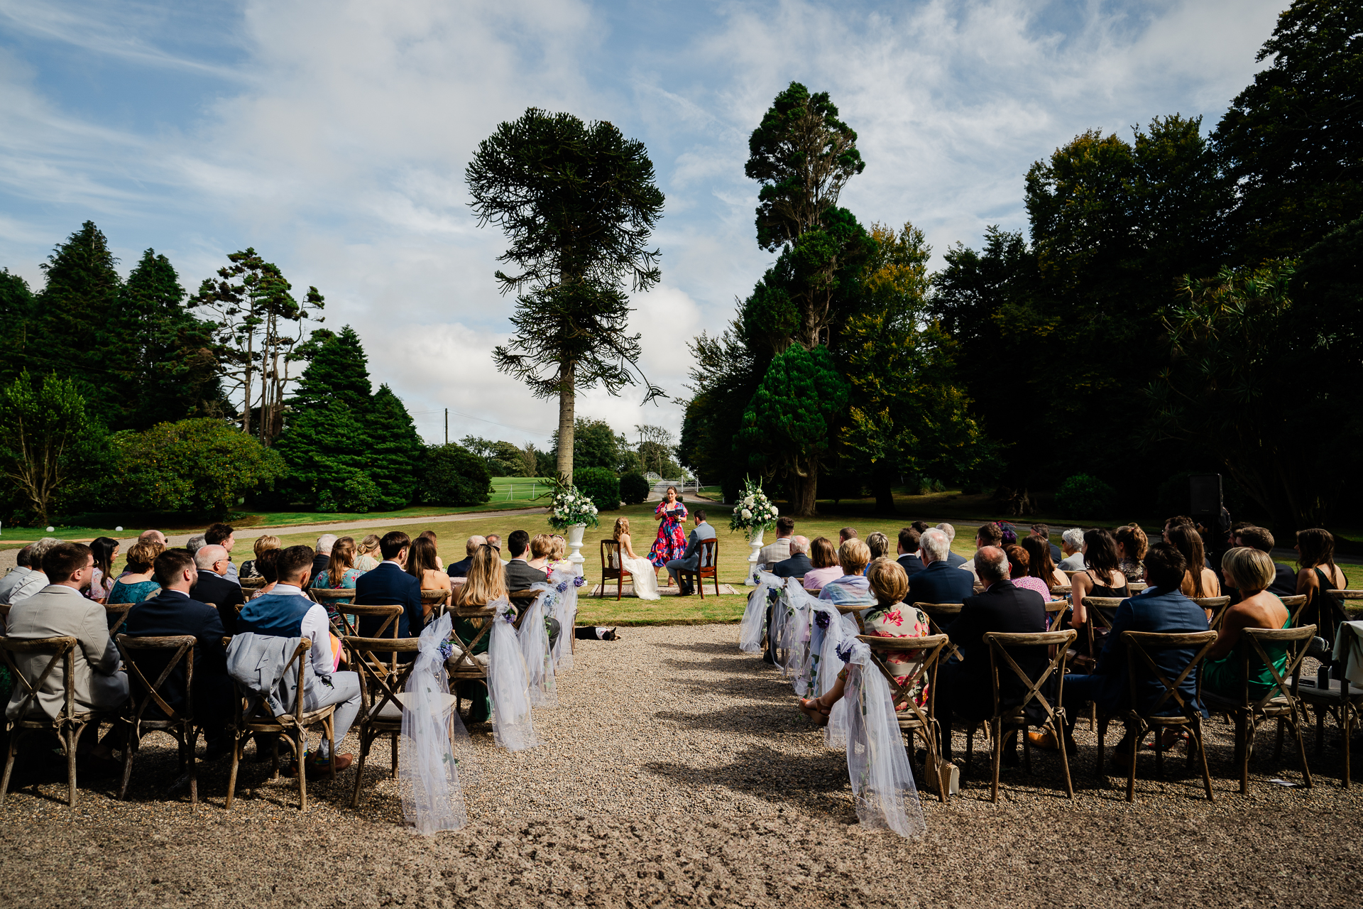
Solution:
<svg viewBox="0 0 1363 909"><path fill-rule="evenodd" d="M1006 634L1002 631L987 631L984 632L984 642L990 646L990 676L994 681L994 715L990 717L990 736L994 739L994 769L992 769L992 789L990 790L990 801L999 800L999 765L1003 762L1003 733L1013 729L1021 729L1022 735L1022 752L1026 758L1026 769L1032 770L1032 748L1028 744L1026 728L1028 717L1026 707L1033 700L1045 710L1044 726L1051 729L1051 735L1055 736L1055 741L1059 743L1056 750L1060 755L1060 766L1065 769L1065 792L1073 799L1074 797L1074 782L1070 780L1070 758L1065 752L1065 661L1069 654L1070 642L1074 641L1077 632L1074 628L1067 631L1043 631L1036 634ZM1021 647L1040 647L1050 653L1051 647L1055 647L1055 654L1050 658L1045 669L1041 671L1035 679L1026 673L1022 666L1017 664L1013 658L1013 651ZM1022 694L1021 703L1005 705L999 700L999 673L1000 664L1006 666L1017 679L1026 687ZM1051 675L1056 675L1055 684L1055 706L1051 705L1050 699L1041 692L1041 687Z"/></svg>

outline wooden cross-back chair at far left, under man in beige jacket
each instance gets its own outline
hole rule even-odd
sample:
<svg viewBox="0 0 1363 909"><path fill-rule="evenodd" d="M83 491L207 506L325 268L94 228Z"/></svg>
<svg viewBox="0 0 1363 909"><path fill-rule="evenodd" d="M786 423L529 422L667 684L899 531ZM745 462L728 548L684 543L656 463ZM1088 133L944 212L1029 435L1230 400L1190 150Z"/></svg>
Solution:
<svg viewBox="0 0 1363 909"><path fill-rule="evenodd" d="M34 732L53 732L61 741L67 752L67 800L76 807L76 741L85 728L102 720L116 720L117 710L79 710L76 707L76 677L75 677L75 649L76 639L61 638L31 638L27 641L16 638L0 638L0 656L4 657L10 673L14 676L16 690L22 691L18 707L18 720L8 724L10 752L4 763L4 780L0 781L0 807L10 792L10 774L14 771L14 759L19 754L19 743ZM34 675L26 676L19 671L15 656L31 657L41 661L48 658L46 665ZM56 717L49 717L38 707L38 691L57 666L63 669L65 687L64 702Z"/></svg>

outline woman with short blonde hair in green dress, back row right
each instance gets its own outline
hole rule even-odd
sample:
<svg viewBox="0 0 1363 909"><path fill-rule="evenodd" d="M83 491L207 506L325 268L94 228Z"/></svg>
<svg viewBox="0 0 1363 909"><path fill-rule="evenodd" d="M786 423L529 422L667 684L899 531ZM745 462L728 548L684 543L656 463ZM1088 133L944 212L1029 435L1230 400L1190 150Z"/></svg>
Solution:
<svg viewBox="0 0 1363 909"><path fill-rule="evenodd" d="M1171 527L1175 529L1180 527ZM1217 628L1216 643L1208 650L1202 664L1202 691L1239 700L1244 694L1242 661L1249 653L1249 688L1253 702L1266 695L1274 683L1273 673L1254 651L1254 645L1249 642L1244 630L1287 628L1292 613L1268 590L1277 572L1273 570L1273 559L1266 552L1249 546L1228 549L1221 556L1221 574L1225 575L1225 583L1239 590L1244 598L1227 609L1221 627ZM1264 653L1269 656L1281 676L1287 669L1287 645L1265 641Z"/></svg>

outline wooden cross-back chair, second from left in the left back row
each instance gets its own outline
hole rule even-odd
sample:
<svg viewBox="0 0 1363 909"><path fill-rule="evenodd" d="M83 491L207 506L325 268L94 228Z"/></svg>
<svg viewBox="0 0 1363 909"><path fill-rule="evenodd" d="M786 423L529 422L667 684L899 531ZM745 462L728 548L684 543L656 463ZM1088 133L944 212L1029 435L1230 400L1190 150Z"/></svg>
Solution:
<svg viewBox="0 0 1363 909"><path fill-rule="evenodd" d="M189 804L199 804L199 774L194 763L194 748L199 739L199 729L194 721L194 645L196 641L194 635L117 636L123 668L128 673L128 741L123 748L123 784L119 786L119 799L125 799L128 795L132 760L136 758L142 736L149 732L164 732L176 740L180 771L184 773L188 765ZM159 662L157 657L165 660L165 666L155 681L149 681L142 669L149 664ZM180 664L184 664L184 702L176 710L166 702L164 688L170 673ZM154 669L151 671L154 672ZM147 717L147 709L153 705L159 710L159 715Z"/></svg>

